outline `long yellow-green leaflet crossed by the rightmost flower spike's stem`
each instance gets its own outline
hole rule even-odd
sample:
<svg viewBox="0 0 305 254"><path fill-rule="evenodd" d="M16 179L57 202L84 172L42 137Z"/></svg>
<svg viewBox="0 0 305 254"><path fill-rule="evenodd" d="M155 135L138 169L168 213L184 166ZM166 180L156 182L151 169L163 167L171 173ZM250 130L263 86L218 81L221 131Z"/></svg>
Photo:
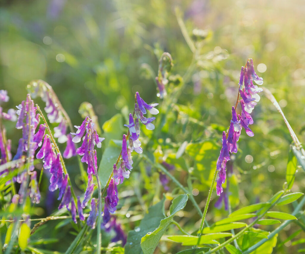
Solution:
<svg viewBox="0 0 305 254"><path fill-rule="evenodd" d="M225 238L228 236L232 236L231 233L213 233L213 234L205 234L200 237L200 241L198 243L198 236L193 235L172 235L168 236L167 238L175 241L181 242L182 245L202 245L202 244L213 244L215 243L216 239Z"/></svg>

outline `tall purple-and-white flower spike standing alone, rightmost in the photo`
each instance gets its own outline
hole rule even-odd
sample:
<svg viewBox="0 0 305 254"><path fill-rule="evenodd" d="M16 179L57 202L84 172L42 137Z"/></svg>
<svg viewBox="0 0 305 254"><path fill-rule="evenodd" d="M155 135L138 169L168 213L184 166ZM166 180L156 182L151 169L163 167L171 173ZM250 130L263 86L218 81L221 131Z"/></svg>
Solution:
<svg viewBox="0 0 305 254"><path fill-rule="evenodd" d="M237 152L237 141L239 140L242 128L245 129L248 136L254 136L249 128L249 125L253 124L250 113L252 113L254 106L260 100L260 96L257 93L263 91L263 89L254 85L253 81L258 85L263 84L263 79L258 77L254 71L253 60L248 59L246 66L241 69L239 78L239 94L242 97L239 101L241 115L237 115L235 107L232 106L232 119L229 131L227 134L225 132L222 134L222 148L216 164L216 168L219 170L216 186L218 196L223 192L222 184L226 180L226 164L230 160L230 153Z"/></svg>

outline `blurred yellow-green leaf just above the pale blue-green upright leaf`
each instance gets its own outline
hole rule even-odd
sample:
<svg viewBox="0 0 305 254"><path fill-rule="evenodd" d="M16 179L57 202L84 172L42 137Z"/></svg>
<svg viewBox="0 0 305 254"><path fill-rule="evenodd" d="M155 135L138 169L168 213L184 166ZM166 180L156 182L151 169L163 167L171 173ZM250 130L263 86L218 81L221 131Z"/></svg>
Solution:
<svg viewBox="0 0 305 254"><path fill-rule="evenodd" d="M103 137L105 138L105 145L108 145L108 142L111 139L119 139L122 138L122 133L124 131L123 128L123 117L120 113L111 117L108 121L106 121L102 129L104 131ZM119 155L118 155L119 156Z"/></svg>

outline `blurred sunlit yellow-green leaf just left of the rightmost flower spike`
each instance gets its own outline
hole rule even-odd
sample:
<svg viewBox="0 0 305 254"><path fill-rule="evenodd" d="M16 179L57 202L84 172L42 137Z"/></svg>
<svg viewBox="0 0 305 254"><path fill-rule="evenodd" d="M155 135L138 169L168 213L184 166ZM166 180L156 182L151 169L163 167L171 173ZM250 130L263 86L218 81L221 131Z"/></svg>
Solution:
<svg viewBox="0 0 305 254"><path fill-rule="evenodd" d="M219 146L212 141L188 144L185 152L194 160L194 175L199 177L200 183L210 187L214 170L216 168L216 160L219 156ZM198 187L196 188L203 188ZM200 189L199 189L200 190Z"/></svg>

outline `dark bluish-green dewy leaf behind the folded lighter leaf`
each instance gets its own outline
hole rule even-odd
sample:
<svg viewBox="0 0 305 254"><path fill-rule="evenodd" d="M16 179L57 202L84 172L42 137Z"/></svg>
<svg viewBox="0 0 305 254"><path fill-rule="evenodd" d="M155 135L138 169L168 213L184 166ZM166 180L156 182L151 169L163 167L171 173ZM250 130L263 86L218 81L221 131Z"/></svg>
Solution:
<svg viewBox="0 0 305 254"><path fill-rule="evenodd" d="M164 199L148 209L148 213L141 220L139 227L128 232L125 254L143 253L140 245L141 238L159 226L160 221L165 217L163 210Z"/></svg>

